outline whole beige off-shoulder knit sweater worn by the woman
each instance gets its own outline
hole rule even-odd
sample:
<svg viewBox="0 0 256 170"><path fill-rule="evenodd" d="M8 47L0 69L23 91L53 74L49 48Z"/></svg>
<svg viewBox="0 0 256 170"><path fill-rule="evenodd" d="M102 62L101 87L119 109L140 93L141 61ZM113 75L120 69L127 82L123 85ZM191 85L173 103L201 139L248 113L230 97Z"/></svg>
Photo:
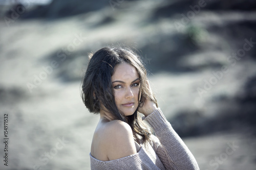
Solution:
<svg viewBox="0 0 256 170"><path fill-rule="evenodd" d="M194 156L164 117L160 108L143 119L154 129L149 144L134 155L100 161L90 154L91 169L199 169Z"/></svg>

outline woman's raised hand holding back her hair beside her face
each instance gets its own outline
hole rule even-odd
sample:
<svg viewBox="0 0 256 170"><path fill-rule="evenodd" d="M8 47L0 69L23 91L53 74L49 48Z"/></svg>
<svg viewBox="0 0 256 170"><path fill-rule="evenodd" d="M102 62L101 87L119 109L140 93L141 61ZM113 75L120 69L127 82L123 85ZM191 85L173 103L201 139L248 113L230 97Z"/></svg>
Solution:
<svg viewBox="0 0 256 170"><path fill-rule="evenodd" d="M150 96L151 98L153 98L153 91L150 87L150 83L148 82L148 80L146 81L146 85L149 87L150 89ZM144 114L144 116L148 116L150 115L153 111L155 111L157 109L156 104L153 101L150 100L145 100L144 104L142 107L140 107L140 105L142 106L142 104L139 104L139 108L138 111L142 114Z"/></svg>

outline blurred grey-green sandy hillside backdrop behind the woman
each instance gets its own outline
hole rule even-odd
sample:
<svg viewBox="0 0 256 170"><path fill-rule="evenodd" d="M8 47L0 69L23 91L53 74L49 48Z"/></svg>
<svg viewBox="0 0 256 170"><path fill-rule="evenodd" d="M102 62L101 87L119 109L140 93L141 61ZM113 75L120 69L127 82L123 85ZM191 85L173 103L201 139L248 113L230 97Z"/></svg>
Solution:
<svg viewBox="0 0 256 170"><path fill-rule="evenodd" d="M90 169L88 53L125 45L200 169L256 168L256 2L0 1L0 169ZM8 166L4 165L8 114Z"/></svg>

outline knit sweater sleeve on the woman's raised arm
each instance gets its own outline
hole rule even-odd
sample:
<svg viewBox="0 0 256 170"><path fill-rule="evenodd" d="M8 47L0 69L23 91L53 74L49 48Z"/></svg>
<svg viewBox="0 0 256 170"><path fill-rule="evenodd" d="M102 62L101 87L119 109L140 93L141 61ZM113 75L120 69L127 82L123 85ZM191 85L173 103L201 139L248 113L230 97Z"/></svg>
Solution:
<svg viewBox="0 0 256 170"><path fill-rule="evenodd" d="M154 148L165 169L199 169L195 157L174 131L160 108L144 117L144 120L154 129L159 139L155 140L157 143Z"/></svg>

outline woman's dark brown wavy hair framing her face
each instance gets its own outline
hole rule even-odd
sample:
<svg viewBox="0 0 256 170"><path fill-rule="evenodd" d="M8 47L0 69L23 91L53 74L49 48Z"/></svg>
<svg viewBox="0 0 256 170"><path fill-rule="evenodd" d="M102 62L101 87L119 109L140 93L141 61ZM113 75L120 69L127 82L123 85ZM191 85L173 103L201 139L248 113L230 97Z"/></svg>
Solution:
<svg viewBox="0 0 256 170"><path fill-rule="evenodd" d="M148 80L147 72L140 57L127 47L104 47L89 56L89 59L82 81L81 96L84 105L90 112L96 114L99 113L100 105L102 105L116 119L122 120L131 126L137 142L148 140L151 131L144 128L143 122L137 113L138 109L130 116L124 116L118 110L111 82L114 67L122 62L129 63L136 68L140 79L139 107L142 107L146 99L155 102L157 105L155 95L152 94L150 87L146 83Z"/></svg>

